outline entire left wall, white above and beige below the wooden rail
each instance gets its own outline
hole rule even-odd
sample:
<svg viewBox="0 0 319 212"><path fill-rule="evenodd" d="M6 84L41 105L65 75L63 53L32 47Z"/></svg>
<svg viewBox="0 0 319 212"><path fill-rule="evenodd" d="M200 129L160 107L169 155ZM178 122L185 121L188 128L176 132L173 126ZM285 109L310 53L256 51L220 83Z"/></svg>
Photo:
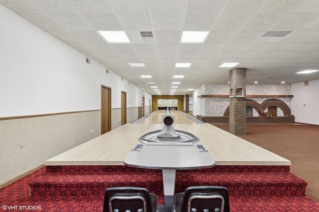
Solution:
<svg viewBox="0 0 319 212"><path fill-rule="evenodd" d="M138 107L136 85L0 5L0 118L90 111L0 120L0 184L101 135L101 85Z"/></svg>

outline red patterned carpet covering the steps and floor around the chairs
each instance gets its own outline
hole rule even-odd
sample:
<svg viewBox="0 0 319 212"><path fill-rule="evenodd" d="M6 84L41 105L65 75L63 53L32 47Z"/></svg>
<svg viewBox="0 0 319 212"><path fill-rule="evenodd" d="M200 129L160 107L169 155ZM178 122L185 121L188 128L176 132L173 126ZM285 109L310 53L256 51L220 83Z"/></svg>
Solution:
<svg viewBox="0 0 319 212"><path fill-rule="evenodd" d="M210 179L213 184L216 182L227 184L230 190L230 207L232 212L319 212L319 204L309 197L305 196L304 188L307 183L300 178L292 175L290 172L287 172L287 168L283 168L283 172L235 172L229 173L227 180L224 178L226 175L221 175L219 170L225 170L225 167L216 167L208 172L199 171L199 172L177 172L176 173L176 189L183 189L183 187L188 186L188 184L180 185L180 182L191 182L194 180L201 182L201 184L206 184L210 182L204 182L204 179ZM232 170L235 170L236 167L233 167ZM243 170L255 170L254 167L248 168L243 167ZM258 168L257 168L258 169ZM267 170L265 168L264 170ZM278 169L278 168L277 168ZM241 170L241 168L236 169ZM106 171L106 170L105 170ZM130 170L128 170L130 172ZM132 170L131 170L132 171ZM275 170L276 171L276 170ZM132 179L135 179L135 182L127 174L127 171L116 172L116 175L113 177L108 177L108 172L100 173L104 183L110 183L113 179L114 182L126 182L128 185L135 186L136 184L141 183L141 181L146 181L145 179L154 180L153 186L151 189L160 188L161 179L160 172L158 171L148 171L142 170L139 171L137 175L131 175ZM45 168L40 170L12 183L11 185L4 187L0 190L0 211L42 211L42 212L102 212L103 204L103 195L92 194L83 194L73 196L72 193L65 194L65 196L56 196L56 193L44 192L42 195L46 196L30 196L29 185L32 184L43 184L44 191L49 191L53 187L55 191L63 190L61 186L55 187L56 183L64 183L65 185L68 182L73 182L73 186L70 186L72 190L81 190L84 187L79 186L78 183L89 183L96 182L96 188L90 188L91 190L104 190L105 188L98 184L100 181L98 179L97 173L50 173L46 172ZM111 174L111 173L109 173ZM114 174L114 173L112 173ZM132 173L130 173L132 174ZM218 176L217 176L217 175ZM116 178L114 178L116 176ZM255 179L256 176L264 176L264 179ZM104 179L103 179L104 178ZM197 178L197 179L195 179ZM223 180L224 178L224 180ZM285 180L283 180L283 178ZM254 179L251 181L250 179ZM224 181L224 182L222 182ZM226 182L227 181L227 182ZM136 184L135 184L136 183ZM270 185L270 183L272 185ZM200 183L199 183L200 184ZM45 187L45 185L47 187ZM160 186L159 186L160 185ZM99 186L101 188L99 188ZM239 189L238 191L233 190L233 188ZM279 187L278 187L279 186ZM87 188L85 188L87 189ZM84 190L85 190L84 189ZM90 190L89 189L89 190ZM252 190L253 195L248 195L245 191ZM257 194L256 191L271 191L273 193L260 193ZM282 190L284 192L280 192ZM243 192L240 192L243 191ZM33 191L34 192L34 191ZM35 192L36 194L36 192ZM37 193L38 195L40 193ZM163 204L163 195L161 191L157 191L159 198L159 205ZM251 193L250 193L251 194ZM53 195L53 196L52 196Z"/></svg>

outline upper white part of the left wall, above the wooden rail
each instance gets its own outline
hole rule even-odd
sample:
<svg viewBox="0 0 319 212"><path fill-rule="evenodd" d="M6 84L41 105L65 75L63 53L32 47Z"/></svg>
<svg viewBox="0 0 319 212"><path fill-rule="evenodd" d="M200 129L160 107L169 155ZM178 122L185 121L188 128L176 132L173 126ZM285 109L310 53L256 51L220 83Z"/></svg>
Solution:
<svg viewBox="0 0 319 212"><path fill-rule="evenodd" d="M101 108L101 84L112 88L112 108L138 107L138 87L91 61L0 5L0 117Z"/></svg>

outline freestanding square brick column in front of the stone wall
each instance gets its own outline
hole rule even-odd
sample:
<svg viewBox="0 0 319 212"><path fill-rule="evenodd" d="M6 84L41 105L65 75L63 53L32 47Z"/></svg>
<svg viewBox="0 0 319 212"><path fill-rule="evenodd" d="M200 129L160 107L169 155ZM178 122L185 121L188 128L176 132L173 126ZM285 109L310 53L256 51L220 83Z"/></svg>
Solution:
<svg viewBox="0 0 319 212"><path fill-rule="evenodd" d="M246 135L246 69L232 69L229 77L229 133Z"/></svg>

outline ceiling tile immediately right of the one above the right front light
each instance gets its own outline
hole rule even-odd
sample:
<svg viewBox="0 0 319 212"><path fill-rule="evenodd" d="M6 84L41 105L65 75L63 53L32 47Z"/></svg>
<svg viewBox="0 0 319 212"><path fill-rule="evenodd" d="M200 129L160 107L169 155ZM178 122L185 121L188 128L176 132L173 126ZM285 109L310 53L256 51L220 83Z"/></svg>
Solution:
<svg viewBox="0 0 319 212"><path fill-rule="evenodd" d="M240 30L254 13L221 13L213 31Z"/></svg>

